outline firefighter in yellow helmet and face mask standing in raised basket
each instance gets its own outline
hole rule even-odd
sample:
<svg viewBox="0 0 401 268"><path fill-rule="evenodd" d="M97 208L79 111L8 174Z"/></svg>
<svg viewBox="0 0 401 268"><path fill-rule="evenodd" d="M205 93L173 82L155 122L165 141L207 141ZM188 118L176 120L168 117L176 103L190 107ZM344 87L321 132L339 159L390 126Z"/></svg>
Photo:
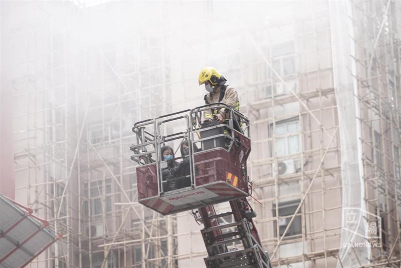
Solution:
<svg viewBox="0 0 401 268"><path fill-rule="evenodd" d="M227 106L240 111L240 101L238 94L233 87L226 85L226 79L213 67L206 67L200 71L198 82L199 86L205 84L205 89L209 92L205 95L205 103L224 103ZM204 122L212 121L215 116L219 123L229 119L230 114L225 108L209 109L204 113ZM237 128L237 127L236 127Z"/></svg>

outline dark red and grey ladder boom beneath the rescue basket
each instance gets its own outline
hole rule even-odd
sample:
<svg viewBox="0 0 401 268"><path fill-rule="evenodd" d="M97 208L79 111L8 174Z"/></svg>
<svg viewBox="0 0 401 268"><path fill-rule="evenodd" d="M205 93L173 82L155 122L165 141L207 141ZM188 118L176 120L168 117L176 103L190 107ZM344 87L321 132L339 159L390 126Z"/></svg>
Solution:
<svg viewBox="0 0 401 268"><path fill-rule="evenodd" d="M232 200L230 206L232 211L221 214L216 214L213 206L199 208L205 225L201 232L208 251L208 257L205 258L206 267L271 268L269 256L261 246L258 231L252 220L256 213L247 199ZM233 215L234 221L219 224L219 218L228 215ZM239 247L233 247L234 244Z"/></svg>

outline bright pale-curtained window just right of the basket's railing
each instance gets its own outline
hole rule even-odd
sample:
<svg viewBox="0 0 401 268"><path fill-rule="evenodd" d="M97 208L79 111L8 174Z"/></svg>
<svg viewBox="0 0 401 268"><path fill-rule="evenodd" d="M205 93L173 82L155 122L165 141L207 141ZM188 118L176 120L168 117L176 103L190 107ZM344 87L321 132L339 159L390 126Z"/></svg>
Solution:
<svg viewBox="0 0 401 268"><path fill-rule="evenodd" d="M276 155L274 155L273 144L270 142L271 157L301 152L301 135L298 133L298 118L279 121L276 123L275 129L273 129L273 124L270 124L269 130L269 137L276 137Z"/></svg>

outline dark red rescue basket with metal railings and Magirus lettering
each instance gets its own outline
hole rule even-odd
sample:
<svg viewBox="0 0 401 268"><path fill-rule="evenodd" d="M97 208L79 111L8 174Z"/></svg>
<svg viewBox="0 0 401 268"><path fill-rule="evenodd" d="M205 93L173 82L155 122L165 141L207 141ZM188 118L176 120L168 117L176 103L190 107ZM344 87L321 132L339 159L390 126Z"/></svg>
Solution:
<svg viewBox="0 0 401 268"><path fill-rule="evenodd" d="M200 114L210 108L226 108L230 119L224 124L202 123ZM244 126L242 128L235 126ZM166 131L182 127L182 131ZM136 168L139 203L163 215L191 210L249 196L247 159L251 151L249 121L224 104L213 104L138 122L131 159ZM167 132L167 133L166 133ZM178 146L188 140L187 174L162 178L166 161L160 148L167 143ZM200 147L198 150L196 148ZM184 156L175 157L179 161Z"/></svg>

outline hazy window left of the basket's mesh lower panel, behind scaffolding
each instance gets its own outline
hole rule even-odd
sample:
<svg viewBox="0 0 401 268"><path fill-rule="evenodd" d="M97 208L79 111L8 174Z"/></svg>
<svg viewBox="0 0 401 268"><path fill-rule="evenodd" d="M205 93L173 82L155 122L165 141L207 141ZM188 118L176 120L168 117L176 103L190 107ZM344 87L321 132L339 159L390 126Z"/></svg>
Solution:
<svg viewBox="0 0 401 268"><path fill-rule="evenodd" d="M90 182L90 197L88 183L84 184L85 197L90 198L90 216L99 215L102 213L102 196L103 196L103 182L97 180ZM111 179L105 181L105 211L111 211ZM84 202L84 214L89 216L89 201Z"/></svg>

